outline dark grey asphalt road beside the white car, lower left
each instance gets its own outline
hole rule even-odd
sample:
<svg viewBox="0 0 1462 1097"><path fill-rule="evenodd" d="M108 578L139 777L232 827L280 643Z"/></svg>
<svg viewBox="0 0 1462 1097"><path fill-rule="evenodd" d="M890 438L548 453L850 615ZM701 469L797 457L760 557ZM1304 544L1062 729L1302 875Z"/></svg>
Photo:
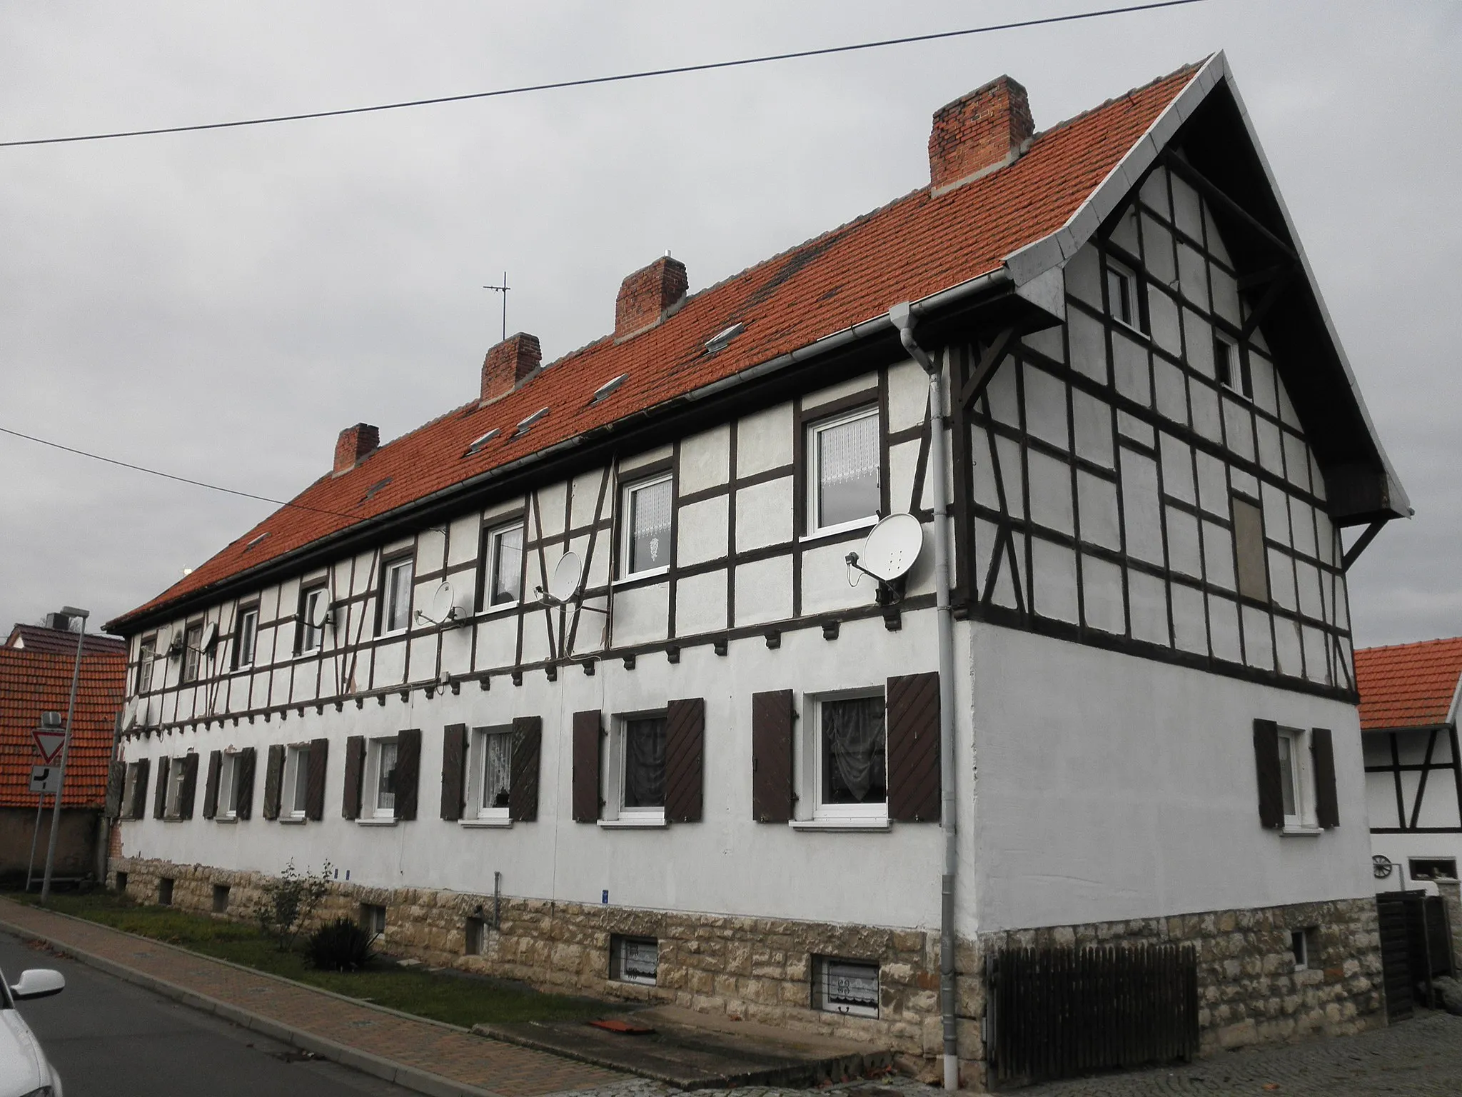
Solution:
<svg viewBox="0 0 1462 1097"><path fill-rule="evenodd" d="M66 1097L405 1097L411 1090L190 1009L0 933L0 970L66 976L66 990L20 1005Z"/></svg>

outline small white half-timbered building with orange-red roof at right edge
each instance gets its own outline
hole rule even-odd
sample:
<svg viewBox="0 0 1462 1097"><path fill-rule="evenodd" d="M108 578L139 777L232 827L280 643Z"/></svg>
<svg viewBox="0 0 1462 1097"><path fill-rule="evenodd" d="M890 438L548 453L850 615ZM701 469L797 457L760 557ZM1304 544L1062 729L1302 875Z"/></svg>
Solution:
<svg viewBox="0 0 1462 1097"><path fill-rule="evenodd" d="M1361 648L1355 680L1371 848L1401 872L1377 888L1456 879L1462 860L1462 636Z"/></svg>

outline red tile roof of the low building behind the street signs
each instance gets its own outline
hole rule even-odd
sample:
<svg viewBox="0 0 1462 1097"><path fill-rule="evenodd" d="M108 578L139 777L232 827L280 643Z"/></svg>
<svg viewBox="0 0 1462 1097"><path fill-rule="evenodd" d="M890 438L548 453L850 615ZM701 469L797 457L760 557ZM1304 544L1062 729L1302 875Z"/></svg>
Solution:
<svg viewBox="0 0 1462 1097"><path fill-rule="evenodd" d="M35 807L31 766L41 762L31 731L41 712L64 720L75 658L0 648L0 806ZM101 807L107 800L111 733L121 708L127 663L121 652L82 660L76 718L66 759L64 807Z"/></svg>

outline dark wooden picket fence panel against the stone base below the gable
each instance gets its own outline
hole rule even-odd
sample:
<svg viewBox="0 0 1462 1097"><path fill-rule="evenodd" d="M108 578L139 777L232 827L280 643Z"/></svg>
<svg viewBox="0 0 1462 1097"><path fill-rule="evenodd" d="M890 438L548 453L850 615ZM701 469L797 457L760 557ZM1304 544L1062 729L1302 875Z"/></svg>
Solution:
<svg viewBox="0 0 1462 1097"><path fill-rule="evenodd" d="M985 1047L1000 1085L1192 1059L1192 945L1003 949L985 962Z"/></svg>

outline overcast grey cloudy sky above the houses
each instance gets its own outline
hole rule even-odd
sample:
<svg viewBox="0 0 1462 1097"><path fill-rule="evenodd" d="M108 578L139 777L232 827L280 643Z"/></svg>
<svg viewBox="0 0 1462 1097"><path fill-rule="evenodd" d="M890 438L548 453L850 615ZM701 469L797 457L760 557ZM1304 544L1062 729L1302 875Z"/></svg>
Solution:
<svg viewBox="0 0 1462 1097"><path fill-rule="evenodd" d="M0 9L0 140L482 91L1092 10L47 3ZM351 118L0 149L0 427L287 499L341 427L471 398L485 348L613 326L928 180L934 108L1009 73L1038 127L1227 50L1417 516L1352 572L1360 644L1462 633L1462 7L1206 0L833 59ZM105 620L265 503L0 434L0 623Z"/></svg>

